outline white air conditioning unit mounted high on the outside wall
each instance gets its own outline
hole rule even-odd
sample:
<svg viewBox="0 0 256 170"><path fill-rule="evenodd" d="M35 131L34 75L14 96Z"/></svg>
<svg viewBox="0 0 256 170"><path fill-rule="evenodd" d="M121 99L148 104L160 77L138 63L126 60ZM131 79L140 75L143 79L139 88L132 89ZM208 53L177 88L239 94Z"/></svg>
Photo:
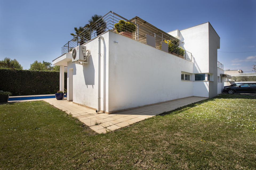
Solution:
<svg viewBox="0 0 256 170"><path fill-rule="evenodd" d="M74 63L87 63L88 56L86 56L86 46L78 45L73 48L72 62Z"/></svg>

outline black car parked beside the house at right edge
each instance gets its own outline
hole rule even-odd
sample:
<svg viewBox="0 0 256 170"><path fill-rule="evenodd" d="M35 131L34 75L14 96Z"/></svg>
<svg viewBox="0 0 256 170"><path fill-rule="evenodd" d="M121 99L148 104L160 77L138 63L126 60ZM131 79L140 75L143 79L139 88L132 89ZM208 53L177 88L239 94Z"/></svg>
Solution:
<svg viewBox="0 0 256 170"><path fill-rule="evenodd" d="M256 83L242 83L234 87L225 87L223 93L256 93Z"/></svg>

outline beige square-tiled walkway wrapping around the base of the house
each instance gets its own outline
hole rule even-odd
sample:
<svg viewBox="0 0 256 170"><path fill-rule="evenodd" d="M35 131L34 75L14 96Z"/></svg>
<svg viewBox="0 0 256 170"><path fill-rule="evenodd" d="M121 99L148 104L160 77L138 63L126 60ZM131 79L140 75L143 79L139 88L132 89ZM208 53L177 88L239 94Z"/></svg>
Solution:
<svg viewBox="0 0 256 170"><path fill-rule="evenodd" d="M157 114L168 112L204 99L207 98L187 97L185 99L173 100L166 103L111 114L102 112L96 113L93 109L68 102L66 99L56 100L55 98L50 98L41 100L50 103L54 107L57 107L68 114L72 114L72 116L77 117L81 122L97 133L106 133L107 131L116 130L146 118L156 116Z"/></svg>

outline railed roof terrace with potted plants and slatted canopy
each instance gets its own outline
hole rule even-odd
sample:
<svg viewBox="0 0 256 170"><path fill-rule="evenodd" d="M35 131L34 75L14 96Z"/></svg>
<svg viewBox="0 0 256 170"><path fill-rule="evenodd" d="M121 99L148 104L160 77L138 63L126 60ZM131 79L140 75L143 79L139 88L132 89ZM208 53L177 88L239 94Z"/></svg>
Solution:
<svg viewBox="0 0 256 170"><path fill-rule="evenodd" d="M115 27L115 24L117 24L120 20L131 23L131 25L126 29L127 32L131 32L130 34L132 35L127 35L126 32L118 30L118 27ZM84 31L78 35L75 35L72 40L63 45L61 52L62 54L68 53L74 47L83 45L87 41L95 39L97 36L108 30L119 32L119 34L122 34L123 36L127 36L141 43L151 45L157 49L169 52L185 60L192 60L192 54L190 52L170 42L171 40L178 40L177 38L169 35L161 29L158 29L138 16L128 20L112 11L109 11L107 14L102 16L102 18L97 20L94 24L87 24L84 27Z"/></svg>

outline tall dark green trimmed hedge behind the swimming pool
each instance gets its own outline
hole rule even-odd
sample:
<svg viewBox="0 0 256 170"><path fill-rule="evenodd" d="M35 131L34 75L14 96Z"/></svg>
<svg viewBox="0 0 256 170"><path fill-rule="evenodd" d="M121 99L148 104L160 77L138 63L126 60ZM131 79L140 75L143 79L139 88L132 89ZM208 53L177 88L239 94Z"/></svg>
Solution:
<svg viewBox="0 0 256 170"><path fill-rule="evenodd" d="M16 71L16 73L15 73ZM59 90L59 72L0 68L0 90L16 95L55 94ZM67 88L67 73L64 73Z"/></svg>

